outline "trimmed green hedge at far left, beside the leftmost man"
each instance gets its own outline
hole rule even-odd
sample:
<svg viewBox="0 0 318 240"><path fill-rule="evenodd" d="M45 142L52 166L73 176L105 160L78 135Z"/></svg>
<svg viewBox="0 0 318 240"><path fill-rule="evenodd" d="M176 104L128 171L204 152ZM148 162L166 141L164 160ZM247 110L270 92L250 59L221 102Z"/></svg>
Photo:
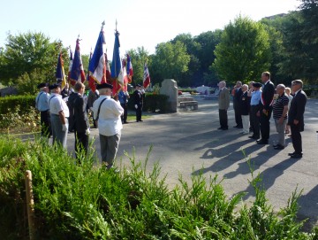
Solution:
<svg viewBox="0 0 318 240"><path fill-rule="evenodd" d="M31 107L35 106L35 96L10 96L10 97L0 97L0 114L6 114L14 111L17 106L19 107L19 113L27 113Z"/></svg>

